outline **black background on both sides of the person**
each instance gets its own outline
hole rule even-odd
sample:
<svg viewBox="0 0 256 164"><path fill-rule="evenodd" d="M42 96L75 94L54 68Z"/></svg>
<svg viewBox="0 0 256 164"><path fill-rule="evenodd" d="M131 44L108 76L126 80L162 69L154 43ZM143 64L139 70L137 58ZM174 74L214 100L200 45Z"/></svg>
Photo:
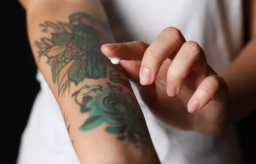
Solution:
<svg viewBox="0 0 256 164"><path fill-rule="evenodd" d="M37 95L40 87L39 83L35 79L36 66L33 55L31 54L29 41L27 38L26 31L26 17L25 11L20 6L18 1L12 1L12 9L14 16L10 16L9 13L5 13L7 16L8 26L5 26L6 35L6 44L13 43L15 40L15 47L10 46L7 50L8 55L7 59L4 59L6 62L2 62L5 69L7 69L7 86L5 88L7 94L4 99L2 99L4 105L4 116L7 118L7 122L3 125L4 128L7 128L3 132L7 140L4 140L4 144L7 144L8 163L14 164L16 161L16 156L18 155L18 149L20 144L20 136L26 126L27 119L30 114L30 109L33 105L34 98ZM2 7L3 8L3 7ZM245 16L245 22L247 17ZM1 24L6 24L1 22ZM245 23L246 24L246 23ZM2 31L5 33L5 30ZM9 33L8 33L9 32ZM12 35L10 35L10 32ZM248 27L245 26L245 43L248 41ZM1 45L3 46L3 44ZM2 52L3 54L3 52ZM5 53L4 53L5 54ZM3 55L2 55L3 56ZM14 58L15 57L15 58ZM12 62L13 67L9 66L9 63ZM7 64L7 66L5 66ZM14 70L12 70L14 69ZM15 73L15 79L12 77L11 73ZM5 78L4 78L5 79ZM17 80L18 79L18 80ZM4 85L5 87L5 85ZM10 98L11 97L11 98ZM4 119L2 119L4 120ZM256 134L255 134L255 125L256 125L256 111L250 114L248 117L244 118L238 122L238 133L240 138L240 145L243 152L243 159L245 164L255 163L254 156L256 155Z"/></svg>

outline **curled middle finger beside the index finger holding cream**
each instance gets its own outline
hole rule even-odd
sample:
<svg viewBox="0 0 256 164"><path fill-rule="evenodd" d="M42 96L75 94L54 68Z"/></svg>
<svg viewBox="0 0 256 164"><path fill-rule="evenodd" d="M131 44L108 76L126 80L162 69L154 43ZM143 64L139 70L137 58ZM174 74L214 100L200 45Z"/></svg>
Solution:
<svg viewBox="0 0 256 164"><path fill-rule="evenodd" d="M165 28L150 44L144 53L140 68L140 83L149 85L154 82L163 62L177 54L185 42L180 30L174 27Z"/></svg>

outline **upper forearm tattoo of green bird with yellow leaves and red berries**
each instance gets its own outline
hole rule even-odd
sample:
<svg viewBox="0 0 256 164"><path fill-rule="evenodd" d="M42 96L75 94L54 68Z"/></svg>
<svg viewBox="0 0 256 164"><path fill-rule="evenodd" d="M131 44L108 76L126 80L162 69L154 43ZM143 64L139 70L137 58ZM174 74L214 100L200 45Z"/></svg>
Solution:
<svg viewBox="0 0 256 164"><path fill-rule="evenodd" d="M69 16L69 23L45 21L39 26L50 32L51 38L41 38L34 44L39 58L47 56L52 63L52 80L58 84L59 94L70 82L78 85L85 78L106 78L107 67L113 67L100 50L112 39L106 23L77 12Z"/></svg>

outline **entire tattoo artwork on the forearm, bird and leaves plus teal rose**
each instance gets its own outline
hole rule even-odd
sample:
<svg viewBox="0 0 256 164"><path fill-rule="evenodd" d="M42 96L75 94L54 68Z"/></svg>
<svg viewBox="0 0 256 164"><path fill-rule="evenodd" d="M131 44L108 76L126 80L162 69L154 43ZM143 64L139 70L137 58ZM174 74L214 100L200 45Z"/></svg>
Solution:
<svg viewBox="0 0 256 164"><path fill-rule="evenodd" d="M72 94L80 112L89 115L79 130L93 130L104 123L106 132L116 135L117 140L132 142L135 148L147 145L150 138L146 123L129 80L124 70L113 65L100 50L102 44L113 40L107 24L86 13L73 13L69 22L45 21L39 26L51 34L50 38L35 41L35 45L39 59L46 56L51 64L52 81L59 95L69 91L71 83L77 86L84 79L104 79L101 84L108 81L118 85L84 85ZM67 124L65 112L63 117L69 133L74 126Z"/></svg>

